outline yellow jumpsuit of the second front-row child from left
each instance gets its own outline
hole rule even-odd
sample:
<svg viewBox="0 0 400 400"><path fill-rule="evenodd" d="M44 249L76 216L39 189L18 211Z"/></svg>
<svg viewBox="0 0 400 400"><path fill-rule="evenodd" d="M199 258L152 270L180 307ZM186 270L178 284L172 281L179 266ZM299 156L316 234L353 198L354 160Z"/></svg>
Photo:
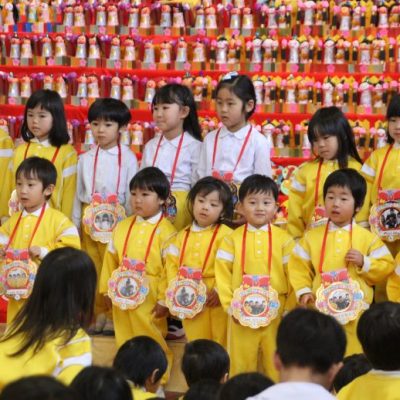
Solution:
<svg viewBox="0 0 400 400"><path fill-rule="evenodd" d="M127 245L126 256L128 258L144 261L151 234L160 216L161 213L147 220L137 217ZM112 240L108 244L99 285L100 293L104 295L108 294L108 281L113 271L121 264L125 238L133 218L128 217L115 227ZM172 353L163 337L163 333L166 333L167 322L166 319L154 319L152 310L157 301L164 298L166 275L162 252L166 241L175 232L173 225L166 218L163 218L154 235L146 263L149 294L145 301L135 310L124 311L114 305L112 307L117 346L121 347L128 339L140 335L153 338L160 344L167 355L169 369L166 376L169 375L169 370L172 366Z"/></svg>

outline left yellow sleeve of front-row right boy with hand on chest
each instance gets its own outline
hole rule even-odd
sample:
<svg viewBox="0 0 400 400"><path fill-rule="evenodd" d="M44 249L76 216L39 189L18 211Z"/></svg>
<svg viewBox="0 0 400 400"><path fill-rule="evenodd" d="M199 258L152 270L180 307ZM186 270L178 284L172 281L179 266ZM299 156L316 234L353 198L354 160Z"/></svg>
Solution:
<svg viewBox="0 0 400 400"><path fill-rule="evenodd" d="M289 258L288 272L289 282L297 299L305 293L312 293L315 270L311 263L311 248L307 236L300 239L294 247Z"/></svg>

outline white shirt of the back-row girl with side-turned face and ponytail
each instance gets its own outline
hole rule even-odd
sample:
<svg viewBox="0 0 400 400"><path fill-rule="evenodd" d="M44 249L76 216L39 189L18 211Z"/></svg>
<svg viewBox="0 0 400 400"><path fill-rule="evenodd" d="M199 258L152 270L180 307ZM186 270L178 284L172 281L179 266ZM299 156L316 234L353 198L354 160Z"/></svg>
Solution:
<svg viewBox="0 0 400 400"><path fill-rule="evenodd" d="M154 164L154 167L160 168L161 171L164 172L165 176L170 182L172 167L174 165L180 138L180 135L172 140L168 140L163 137L157 154L157 159ZM143 151L140 169L153 166L154 155L156 154L159 141L160 136L157 135L147 142ZM194 183L192 182L192 179L195 171L197 170L200 149L201 142L195 139L189 133L185 132L185 137L183 138L182 148L176 165L172 190L190 190L192 183Z"/></svg>

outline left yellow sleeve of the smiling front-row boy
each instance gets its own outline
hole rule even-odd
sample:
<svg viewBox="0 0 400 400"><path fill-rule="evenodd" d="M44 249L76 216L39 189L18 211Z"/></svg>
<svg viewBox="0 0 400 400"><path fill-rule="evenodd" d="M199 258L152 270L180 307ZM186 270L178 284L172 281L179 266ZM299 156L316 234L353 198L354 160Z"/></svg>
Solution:
<svg viewBox="0 0 400 400"><path fill-rule="evenodd" d="M215 256L215 281L223 309L227 312L233 297L232 270L235 260L235 243L232 235L226 236Z"/></svg>

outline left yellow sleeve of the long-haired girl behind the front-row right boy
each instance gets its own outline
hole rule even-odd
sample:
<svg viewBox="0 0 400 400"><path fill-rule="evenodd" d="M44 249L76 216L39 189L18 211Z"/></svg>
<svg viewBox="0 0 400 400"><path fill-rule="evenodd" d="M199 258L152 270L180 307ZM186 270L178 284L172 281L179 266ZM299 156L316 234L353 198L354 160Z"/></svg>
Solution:
<svg viewBox="0 0 400 400"><path fill-rule="evenodd" d="M292 177L288 200L288 233L295 239L303 236L305 222L303 218L303 204L307 186L303 168L300 168Z"/></svg>

